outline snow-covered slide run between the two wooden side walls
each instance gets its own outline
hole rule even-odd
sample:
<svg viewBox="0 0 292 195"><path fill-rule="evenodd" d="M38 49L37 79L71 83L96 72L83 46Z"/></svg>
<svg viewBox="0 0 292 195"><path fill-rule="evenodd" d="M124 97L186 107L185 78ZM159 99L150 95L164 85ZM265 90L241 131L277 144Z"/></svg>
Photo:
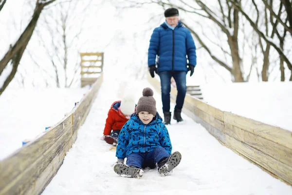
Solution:
<svg viewBox="0 0 292 195"><path fill-rule="evenodd" d="M172 122L167 126L173 151L180 151L183 156L173 173L162 177L156 170L146 170L141 179L116 175L112 169L116 161L115 151L109 150L110 145L99 138L110 105L121 98L123 94L117 92L123 86L125 83L118 86L112 80L103 82L73 148L42 195L292 194L291 186L223 147L200 124L185 115L185 124ZM146 86L150 86L149 83L134 82L128 91L135 92L139 98ZM154 98L158 112L162 113L159 94L155 92Z"/></svg>

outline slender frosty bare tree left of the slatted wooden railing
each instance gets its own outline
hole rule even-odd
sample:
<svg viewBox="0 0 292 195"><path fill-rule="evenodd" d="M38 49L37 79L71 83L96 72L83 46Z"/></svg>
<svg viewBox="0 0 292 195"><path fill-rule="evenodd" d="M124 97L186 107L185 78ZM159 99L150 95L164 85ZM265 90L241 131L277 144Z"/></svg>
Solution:
<svg viewBox="0 0 292 195"><path fill-rule="evenodd" d="M41 19L42 26L36 30L37 39L45 50L46 61L51 63L51 67L47 67L46 72L54 74L54 82L57 87L71 87L78 79L78 71L80 71L79 38L83 32L82 25L86 18L84 13L90 7L91 2L92 0L85 4L81 1L68 1L57 4L51 13ZM77 8L79 11L81 8L79 15L76 13ZM76 23L76 21L78 22ZM76 28L76 25L79 24L81 26ZM44 33L44 31L46 32ZM37 67L41 67L42 61L33 60Z"/></svg>

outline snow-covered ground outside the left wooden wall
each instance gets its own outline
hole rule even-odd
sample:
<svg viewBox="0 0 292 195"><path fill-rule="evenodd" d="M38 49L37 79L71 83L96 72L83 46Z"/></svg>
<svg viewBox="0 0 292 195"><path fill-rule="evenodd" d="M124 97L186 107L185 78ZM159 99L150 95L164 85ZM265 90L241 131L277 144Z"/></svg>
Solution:
<svg viewBox="0 0 292 195"><path fill-rule="evenodd" d="M88 88L8 89L0 96L0 160L71 112Z"/></svg>

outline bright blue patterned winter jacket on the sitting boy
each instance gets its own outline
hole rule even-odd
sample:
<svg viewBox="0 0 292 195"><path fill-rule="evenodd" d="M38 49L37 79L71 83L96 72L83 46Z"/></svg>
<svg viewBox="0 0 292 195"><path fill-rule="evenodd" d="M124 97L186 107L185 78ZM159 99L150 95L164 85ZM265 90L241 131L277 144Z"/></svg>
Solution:
<svg viewBox="0 0 292 195"><path fill-rule="evenodd" d="M158 112L146 125L134 113L119 134L116 156L124 159L131 153L146 153L157 147L163 147L171 155L169 134Z"/></svg>

